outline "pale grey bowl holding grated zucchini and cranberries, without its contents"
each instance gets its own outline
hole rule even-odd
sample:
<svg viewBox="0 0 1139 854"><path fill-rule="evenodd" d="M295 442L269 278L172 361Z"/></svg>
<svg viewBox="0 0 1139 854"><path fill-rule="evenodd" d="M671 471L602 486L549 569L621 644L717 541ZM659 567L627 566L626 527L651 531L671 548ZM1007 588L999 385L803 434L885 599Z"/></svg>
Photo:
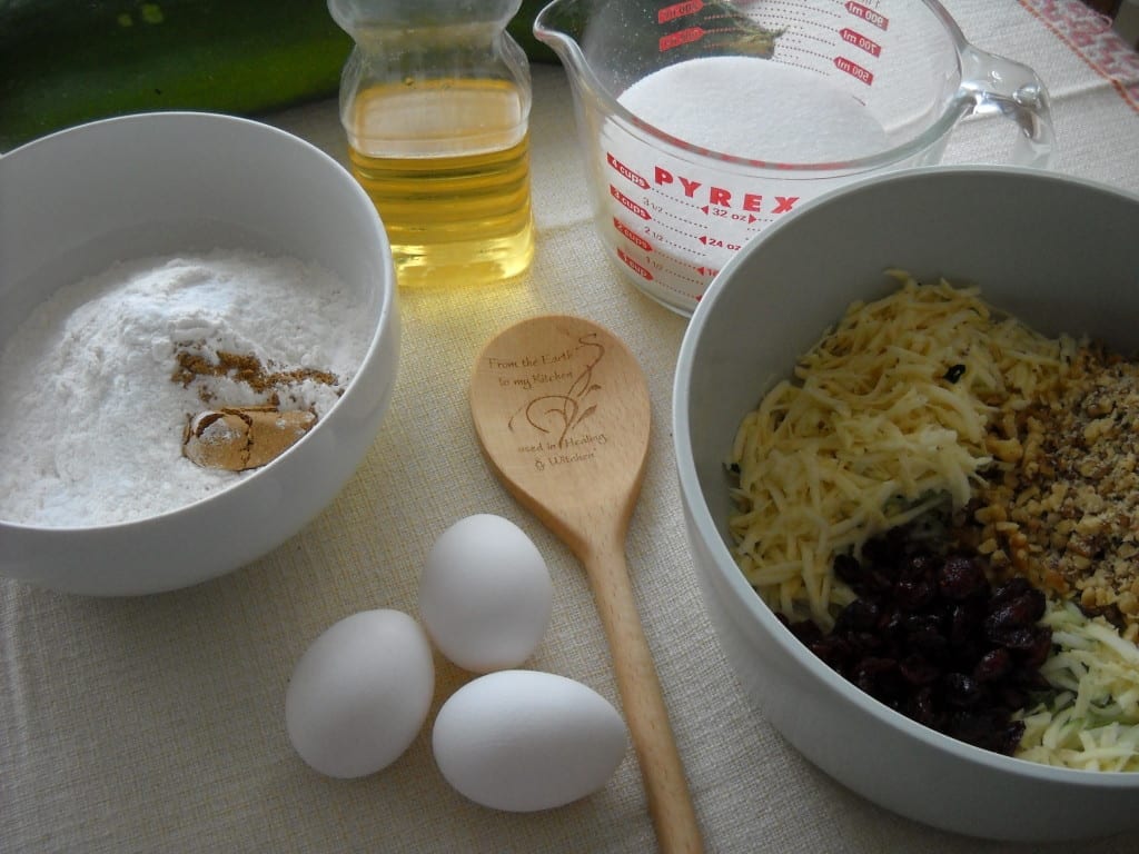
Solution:
<svg viewBox="0 0 1139 854"><path fill-rule="evenodd" d="M982 837L1139 828L1139 774L1055 769L926 729L847 683L779 623L730 553L723 465L744 414L883 270L972 280L1039 329L1139 350L1139 198L1052 173L887 174L805 205L727 264L680 352L673 429L697 577L757 709L811 762L902 815Z"/></svg>

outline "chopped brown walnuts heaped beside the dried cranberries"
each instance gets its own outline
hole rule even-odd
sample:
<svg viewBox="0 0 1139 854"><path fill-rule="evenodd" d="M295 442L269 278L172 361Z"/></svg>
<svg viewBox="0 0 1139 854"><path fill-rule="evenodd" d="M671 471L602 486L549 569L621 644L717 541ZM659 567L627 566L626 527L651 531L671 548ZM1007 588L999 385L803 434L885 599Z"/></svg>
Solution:
<svg viewBox="0 0 1139 854"><path fill-rule="evenodd" d="M991 446L967 508L978 551L1139 639L1139 362L1081 348L1055 395L994 419Z"/></svg>

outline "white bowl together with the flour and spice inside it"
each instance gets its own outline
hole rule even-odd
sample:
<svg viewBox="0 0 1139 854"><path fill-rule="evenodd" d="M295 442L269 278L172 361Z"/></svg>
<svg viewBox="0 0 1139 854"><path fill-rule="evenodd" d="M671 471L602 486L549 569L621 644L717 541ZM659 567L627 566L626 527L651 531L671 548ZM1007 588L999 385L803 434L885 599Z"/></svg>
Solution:
<svg viewBox="0 0 1139 854"><path fill-rule="evenodd" d="M303 527L396 375L375 208L306 142L229 116L96 122L0 157L0 575L124 596ZM306 412L267 465L183 453L203 410ZM298 434L300 435L300 434Z"/></svg>

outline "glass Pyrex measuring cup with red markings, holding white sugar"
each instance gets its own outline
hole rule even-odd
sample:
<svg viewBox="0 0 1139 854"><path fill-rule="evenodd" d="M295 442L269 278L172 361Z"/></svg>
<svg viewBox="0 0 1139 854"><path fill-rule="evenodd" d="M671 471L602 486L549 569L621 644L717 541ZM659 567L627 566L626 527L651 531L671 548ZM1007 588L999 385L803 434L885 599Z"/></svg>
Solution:
<svg viewBox="0 0 1139 854"><path fill-rule="evenodd" d="M1009 162L1051 157L1043 83L934 0L555 0L534 34L566 67L606 248L685 314L764 227L936 163L967 115L1013 122Z"/></svg>

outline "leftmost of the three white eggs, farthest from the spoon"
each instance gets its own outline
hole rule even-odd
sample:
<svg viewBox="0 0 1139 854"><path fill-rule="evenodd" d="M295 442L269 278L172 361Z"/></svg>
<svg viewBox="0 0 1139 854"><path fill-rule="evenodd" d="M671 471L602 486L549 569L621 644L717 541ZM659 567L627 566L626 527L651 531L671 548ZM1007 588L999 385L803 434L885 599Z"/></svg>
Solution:
<svg viewBox="0 0 1139 854"><path fill-rule="evenodd" d="M431 643L399 610L366 610L305 650L285 693L293 747L322 774L364 777L398 759L423 729L435 691Z"/></svg>

